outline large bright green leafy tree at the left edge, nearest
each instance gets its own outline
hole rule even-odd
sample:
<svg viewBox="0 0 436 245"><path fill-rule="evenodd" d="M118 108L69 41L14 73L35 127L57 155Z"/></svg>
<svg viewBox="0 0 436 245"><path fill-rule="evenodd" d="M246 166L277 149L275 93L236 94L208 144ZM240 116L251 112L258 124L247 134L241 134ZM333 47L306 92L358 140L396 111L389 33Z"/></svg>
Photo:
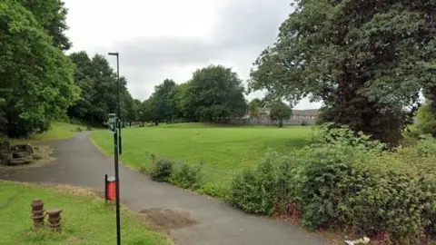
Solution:
<svg viewBox="0 0 436 245"><path fill-rule="evenodd" d="M78 97L74 65L18 2L0 3L0 26L0 131L9 137L44 132Z"/></svg>

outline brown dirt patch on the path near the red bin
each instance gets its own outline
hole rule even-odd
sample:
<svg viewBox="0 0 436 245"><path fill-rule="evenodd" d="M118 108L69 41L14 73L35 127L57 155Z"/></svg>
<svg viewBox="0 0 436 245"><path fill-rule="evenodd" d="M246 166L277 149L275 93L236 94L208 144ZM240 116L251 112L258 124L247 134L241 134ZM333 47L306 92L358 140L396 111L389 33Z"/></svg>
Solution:
<svg viewBox="0 0 436 245"><path fill-rule="evenodd" d="M139 212L155 230L176 230L197 224L187 211L174 211L171 209L149 209Z"/></svg>

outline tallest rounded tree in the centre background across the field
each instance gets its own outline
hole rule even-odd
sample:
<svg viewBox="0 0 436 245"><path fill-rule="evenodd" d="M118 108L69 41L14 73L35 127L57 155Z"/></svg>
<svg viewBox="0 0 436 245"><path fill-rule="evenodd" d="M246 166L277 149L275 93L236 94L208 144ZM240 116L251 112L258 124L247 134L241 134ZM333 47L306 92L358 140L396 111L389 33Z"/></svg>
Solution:
<svg viewBox="0 0 436 245"><path fill-rule="evenodd" d="M242 116L247 102L237 73L222 65L210 65L193 73L185 96L185 108L196 120L221 122Z"/></svg>

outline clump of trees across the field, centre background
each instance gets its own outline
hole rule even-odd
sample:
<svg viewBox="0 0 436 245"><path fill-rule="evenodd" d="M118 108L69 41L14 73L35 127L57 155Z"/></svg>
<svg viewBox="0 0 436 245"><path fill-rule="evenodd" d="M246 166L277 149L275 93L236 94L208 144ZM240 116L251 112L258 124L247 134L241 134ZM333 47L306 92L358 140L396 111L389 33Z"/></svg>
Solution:
<svg viewBox="0 0 436 245"><path fill-rule="evenodd" d="M231 68L210 65L198 69L192 79L177 84L165 79L141 103L142 122L223 122L247 111L242 80Z"/></svg>

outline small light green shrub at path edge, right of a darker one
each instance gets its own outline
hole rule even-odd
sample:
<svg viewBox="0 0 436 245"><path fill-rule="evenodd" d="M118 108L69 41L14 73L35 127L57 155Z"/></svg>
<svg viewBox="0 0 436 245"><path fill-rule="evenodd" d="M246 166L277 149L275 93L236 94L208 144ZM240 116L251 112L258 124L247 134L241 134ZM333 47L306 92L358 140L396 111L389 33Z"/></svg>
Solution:
<svg viewBox="0 0 436 245"><path fill-rule="evenodd" d="M191 166L183 163L176 164L169 181L185 189L200 189L203 185L202 166Z"/></svg>

